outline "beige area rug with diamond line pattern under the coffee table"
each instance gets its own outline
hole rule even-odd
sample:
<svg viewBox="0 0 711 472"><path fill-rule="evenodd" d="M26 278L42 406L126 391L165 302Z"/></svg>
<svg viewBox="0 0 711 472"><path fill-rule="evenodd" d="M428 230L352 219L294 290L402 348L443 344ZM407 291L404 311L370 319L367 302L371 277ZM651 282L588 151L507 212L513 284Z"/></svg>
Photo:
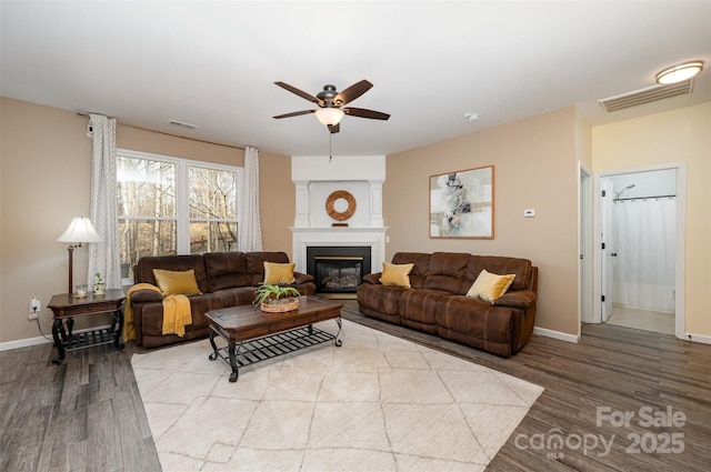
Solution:
<svg viewBox="0 0 711 472"><path fill-rule="evenodd" d="M163 471L483 471L543 391L347 320L341 339L236 383L207 340L134 354Z"/></svg>

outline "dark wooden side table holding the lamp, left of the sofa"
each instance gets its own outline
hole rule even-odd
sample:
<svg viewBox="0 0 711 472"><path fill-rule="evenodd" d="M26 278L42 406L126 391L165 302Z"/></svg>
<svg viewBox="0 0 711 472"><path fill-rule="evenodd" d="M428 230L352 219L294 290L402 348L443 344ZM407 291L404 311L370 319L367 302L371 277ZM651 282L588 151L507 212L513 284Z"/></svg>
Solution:
<svg viewBox="0 0 711 472"><path fill-rule="evenodd" d="M123 290L107 290L103 295L89 293L78 299L71 293L60 293L49 301L49 309L54 313L52 338L59 355L52 359L57 365L64 360L66 351L89 348L91 345L113 343L118 350L123 349L121 330L123 329ZM110 328L98 329L72 334L76 317L110 313L113 317Z"/></svg>

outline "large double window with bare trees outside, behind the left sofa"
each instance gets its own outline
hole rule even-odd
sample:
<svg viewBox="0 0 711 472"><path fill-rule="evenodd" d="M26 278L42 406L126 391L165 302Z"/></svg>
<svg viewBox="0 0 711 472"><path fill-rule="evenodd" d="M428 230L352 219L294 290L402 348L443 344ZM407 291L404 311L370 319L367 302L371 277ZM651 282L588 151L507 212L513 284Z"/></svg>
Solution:
<svg viewBox="0 0 711 472"><path fill-rule="evenodd" d="M144 255L237 251L241 179L237 167L118 150L122 277Z"/></svg>

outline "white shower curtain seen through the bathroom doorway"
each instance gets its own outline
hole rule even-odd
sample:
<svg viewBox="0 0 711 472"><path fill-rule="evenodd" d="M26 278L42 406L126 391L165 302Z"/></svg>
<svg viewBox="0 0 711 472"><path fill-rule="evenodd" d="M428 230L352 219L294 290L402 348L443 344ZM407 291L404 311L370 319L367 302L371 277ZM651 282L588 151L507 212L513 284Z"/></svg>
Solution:
<svg viewBox="0 0 711 472"><path fill-rule="evenodd" d="M615 201L612 233L613 302L674 312L677 199Z"/></svg>

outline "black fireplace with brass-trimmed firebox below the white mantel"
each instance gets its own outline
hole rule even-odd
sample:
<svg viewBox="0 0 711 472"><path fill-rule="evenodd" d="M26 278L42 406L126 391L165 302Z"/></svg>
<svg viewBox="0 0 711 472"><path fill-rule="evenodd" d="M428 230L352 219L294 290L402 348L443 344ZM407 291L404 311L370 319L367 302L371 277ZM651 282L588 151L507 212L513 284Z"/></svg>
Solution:
<svg viewBox="0 0 711 472"><path fill-rule="evenodd" d="M316 292L326 298L356 298L363 275L370 273L369 247L307 248L307 273L313 275Z"/></svg>

